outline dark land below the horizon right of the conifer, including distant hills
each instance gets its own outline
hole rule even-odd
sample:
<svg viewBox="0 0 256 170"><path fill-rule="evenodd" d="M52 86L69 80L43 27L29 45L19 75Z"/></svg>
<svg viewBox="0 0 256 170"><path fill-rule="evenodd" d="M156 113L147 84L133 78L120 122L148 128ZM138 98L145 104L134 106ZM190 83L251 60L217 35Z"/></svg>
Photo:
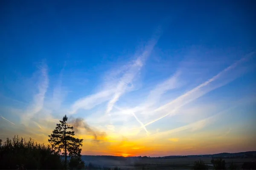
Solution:
<svg viewBox="0 0 256 170"><path fill-rule="evenodd" d="M100 169L102 167L117 167L124 170L187 170L193 169L195 161L202 160L209 167L212 167L212 159L225 160L226 167L236 164L236 169L242 168L244 162L256 161L256 151L241 153L218 153L209 155L190 155L190 156L163 156L163 157L122 157L122 156L81 156L84 163L88 166ZM114 168L113 168L114 169ZM204 169L204 168L203 168Z"/></svg>

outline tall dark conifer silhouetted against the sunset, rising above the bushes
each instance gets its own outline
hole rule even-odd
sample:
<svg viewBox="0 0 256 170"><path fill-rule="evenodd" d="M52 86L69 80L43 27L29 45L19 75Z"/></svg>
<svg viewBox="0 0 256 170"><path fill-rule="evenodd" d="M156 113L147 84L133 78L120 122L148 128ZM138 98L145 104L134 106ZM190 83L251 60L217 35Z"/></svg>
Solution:
<svg viewBox="0 0 256 170"><path fill-rule="evenodd" d="M54 150L65 156L65 169L67 169L67 156L81 157L81 148L83 139L75 138L73 126L67 124L67 115L56 125L52 134L49 135L48 141ZM61 152L62 151L62 152ZM67 155L68 153L68 155Z"/></svg>

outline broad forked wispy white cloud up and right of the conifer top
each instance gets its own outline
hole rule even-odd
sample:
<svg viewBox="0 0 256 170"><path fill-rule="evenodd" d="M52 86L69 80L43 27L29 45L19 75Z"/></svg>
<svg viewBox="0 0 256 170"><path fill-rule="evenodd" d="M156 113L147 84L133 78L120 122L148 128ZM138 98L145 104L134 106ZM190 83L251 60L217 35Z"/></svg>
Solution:
<svg viewBox="0 0 256 170"><path fill-rule="evenodd" d="M143 57L145 58L145 56ZM106 101L109 102L105 112L110 113L119 97L132 89L133 80L143 66L141 58L138 57L131 64L124 65L118 70L108 73L108 77L105 78L107 82L105 82L104 90L74 102L71 106L72 111L70 113L76 113L79 109L89 110Z"/></svg>

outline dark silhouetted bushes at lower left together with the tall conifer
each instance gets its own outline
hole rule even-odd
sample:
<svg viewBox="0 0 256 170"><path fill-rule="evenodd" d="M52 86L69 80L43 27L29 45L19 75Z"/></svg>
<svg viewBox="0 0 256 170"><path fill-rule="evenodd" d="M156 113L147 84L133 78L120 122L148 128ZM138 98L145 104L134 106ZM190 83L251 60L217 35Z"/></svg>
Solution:
<svg viewBox="0 0 256 170"><path fill-rule="evenodd" d="M31 138L26 141L18 136L12 140L7 138L4 143L0 139L0 169L83 169L80 148L83 139L77 139L74 135L65 115L49 135L47 145L38 144Z"/></svg>

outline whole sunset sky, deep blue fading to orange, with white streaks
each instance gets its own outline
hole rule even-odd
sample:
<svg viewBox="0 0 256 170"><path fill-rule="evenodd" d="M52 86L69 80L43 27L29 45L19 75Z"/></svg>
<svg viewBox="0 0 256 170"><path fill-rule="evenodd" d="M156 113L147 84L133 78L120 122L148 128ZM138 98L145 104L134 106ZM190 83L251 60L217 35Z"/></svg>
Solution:
<svg viewBox="0 0 256 170"><path fill-rule="evenodd" d="M256 150L255 1L0 3L3 141L67 115L83 155Z"/></svg>

